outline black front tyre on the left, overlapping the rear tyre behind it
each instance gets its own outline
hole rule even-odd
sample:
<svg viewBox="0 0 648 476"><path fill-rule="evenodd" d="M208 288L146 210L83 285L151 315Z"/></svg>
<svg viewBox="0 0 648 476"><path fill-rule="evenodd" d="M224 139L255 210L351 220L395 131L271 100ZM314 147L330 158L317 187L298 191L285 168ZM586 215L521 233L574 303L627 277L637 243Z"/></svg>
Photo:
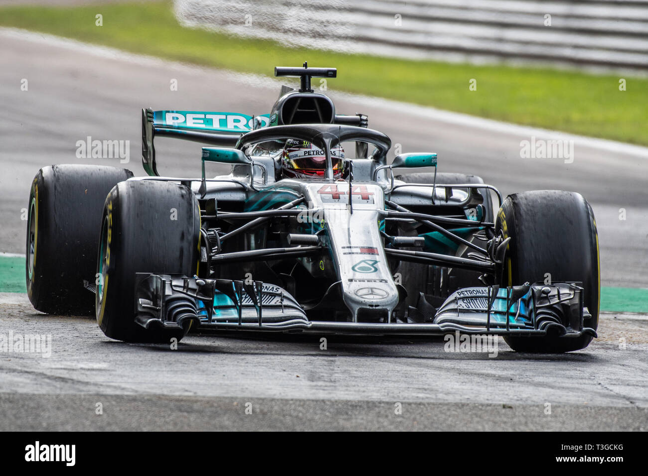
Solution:
<svg viewBox="0 0 648 476"><path fill-rule="evenodd" d="M97 259L97 323L127 342L178 341L188 328L145 329L135 323L135 273L198 273L200 209L188 187L165 181L123 182L104 206Z"/></svg>

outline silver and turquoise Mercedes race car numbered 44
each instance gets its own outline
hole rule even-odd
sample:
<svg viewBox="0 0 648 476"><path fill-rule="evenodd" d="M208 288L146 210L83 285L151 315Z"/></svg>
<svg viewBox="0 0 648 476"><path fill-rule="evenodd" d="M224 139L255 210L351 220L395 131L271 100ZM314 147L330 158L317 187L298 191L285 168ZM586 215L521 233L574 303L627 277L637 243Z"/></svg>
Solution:
<svg viewBox="0 0 648 476"><path fill-rule="evenodd" d="M283 87L268 115L144 109L148 176L42 168L27 227L34 307L95 313L108 337L139 342L190 328L458 331L567 352L596 337L599 252L583 196L503 200L480 177L437 173L430 152L388 164L389 137L311 89L312 77L336 69L275 75L301 87ZM159 176L157 136L209 145L202 177ZM231 173L207 178L205 162Z"/></svg>

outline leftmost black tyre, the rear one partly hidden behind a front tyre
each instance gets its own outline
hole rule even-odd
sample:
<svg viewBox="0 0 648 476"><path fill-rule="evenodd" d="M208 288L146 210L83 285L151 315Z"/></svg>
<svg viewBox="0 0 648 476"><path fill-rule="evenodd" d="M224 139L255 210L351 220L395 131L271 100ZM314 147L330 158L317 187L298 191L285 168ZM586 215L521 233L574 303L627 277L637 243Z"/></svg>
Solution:
<svg viewBox="0 0 648 476"><path fill-rule="evenodd" d="M29 194L25 279L36 310L92 315L101 210L108 192L133 176L99 165L41 168Z"/></svg>

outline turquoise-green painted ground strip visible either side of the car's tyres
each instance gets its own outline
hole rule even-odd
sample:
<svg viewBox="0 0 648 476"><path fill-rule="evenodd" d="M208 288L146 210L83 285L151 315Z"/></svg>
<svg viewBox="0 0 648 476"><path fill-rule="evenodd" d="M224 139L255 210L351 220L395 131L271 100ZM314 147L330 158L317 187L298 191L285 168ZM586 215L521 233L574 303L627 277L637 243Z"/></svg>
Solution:
<svg viewBox="0 0 648 476"><path fill-rule="evenodd" d="M0 293L26 293L25 258L0 256ZM648 289L601 288L601 311L648 313Z"/></svg>

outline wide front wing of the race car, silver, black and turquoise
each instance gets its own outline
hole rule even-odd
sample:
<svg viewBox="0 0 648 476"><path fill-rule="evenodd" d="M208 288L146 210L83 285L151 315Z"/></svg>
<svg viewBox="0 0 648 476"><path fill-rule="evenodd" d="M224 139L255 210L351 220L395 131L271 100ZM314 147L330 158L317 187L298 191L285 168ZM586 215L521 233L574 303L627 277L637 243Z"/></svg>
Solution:
<svg viewBox="0 0 648 476"><path fill-rule="evenodd" d="M536 283L457 289L421 321L311 321L290 293L260 281L137 273L135 321L144 328L198 328L317 334L596 337L578 283Z"/></svg>

